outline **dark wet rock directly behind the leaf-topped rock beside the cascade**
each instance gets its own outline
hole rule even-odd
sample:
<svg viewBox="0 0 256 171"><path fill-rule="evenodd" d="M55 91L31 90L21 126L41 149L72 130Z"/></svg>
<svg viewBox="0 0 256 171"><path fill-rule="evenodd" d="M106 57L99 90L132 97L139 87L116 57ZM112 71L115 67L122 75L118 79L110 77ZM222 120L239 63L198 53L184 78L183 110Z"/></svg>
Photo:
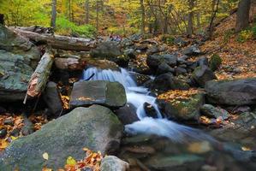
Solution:
<svg viewBox="0 0 256 171"><path fill-rule="evenodd" d="M188 90L189 85L173 74L161 74L151 84L151 90L157 92L164 92L169 90Z"/></svg>

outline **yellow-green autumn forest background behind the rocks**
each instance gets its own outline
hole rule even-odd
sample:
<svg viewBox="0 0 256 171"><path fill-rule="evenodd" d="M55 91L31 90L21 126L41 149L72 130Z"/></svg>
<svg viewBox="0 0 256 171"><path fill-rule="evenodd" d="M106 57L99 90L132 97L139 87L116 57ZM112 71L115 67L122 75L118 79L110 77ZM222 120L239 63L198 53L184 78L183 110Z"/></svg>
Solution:
<svg viewBox="0 0 256 171"><path fill-rule="evenodd" d="M234 13L238 3L238 0L0 0L0 11L8 26L54 27L57 33L66 35L92 37L142 32L191 36L208 32L211 36L214 23ZM244 16L243 21L247 21Z"/></svg>

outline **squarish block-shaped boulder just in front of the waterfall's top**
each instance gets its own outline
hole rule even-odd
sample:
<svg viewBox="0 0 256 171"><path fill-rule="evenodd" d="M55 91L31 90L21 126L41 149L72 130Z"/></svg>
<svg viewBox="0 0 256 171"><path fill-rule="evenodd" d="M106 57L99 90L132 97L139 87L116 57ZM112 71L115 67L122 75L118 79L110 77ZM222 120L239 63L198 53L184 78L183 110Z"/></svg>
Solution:
<svg viewBox="0 0 256 171"><path fill-rule="evenodd" d="M120 108L127 102L123 85L104 80L79 81L74 83L70 96L70 108L101 104Z"/></svg>

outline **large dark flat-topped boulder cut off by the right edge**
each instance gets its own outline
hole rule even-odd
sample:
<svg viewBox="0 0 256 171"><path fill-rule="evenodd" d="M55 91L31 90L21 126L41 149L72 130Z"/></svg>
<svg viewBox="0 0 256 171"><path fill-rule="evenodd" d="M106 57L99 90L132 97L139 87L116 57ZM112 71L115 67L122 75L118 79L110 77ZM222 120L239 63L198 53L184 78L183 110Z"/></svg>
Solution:
<svg viewBox="0 0 256 171"><path fill-rule="evenodd" d="M242 80L211 80L205 85L210 103L225 105L256 104L256 78Z"/></svg>

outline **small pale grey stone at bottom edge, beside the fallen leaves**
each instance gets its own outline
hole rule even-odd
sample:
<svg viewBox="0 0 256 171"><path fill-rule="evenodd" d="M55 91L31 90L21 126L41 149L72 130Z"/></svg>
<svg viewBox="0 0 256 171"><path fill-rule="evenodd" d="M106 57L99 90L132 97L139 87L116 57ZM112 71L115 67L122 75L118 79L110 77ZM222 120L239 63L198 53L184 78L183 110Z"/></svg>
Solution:
<svg viewBox="0 0 256 171"><path fill-rule="evenodd" d="M129 164L116 156L105 156L100 164L101 171L128 171Z"/></svg>

